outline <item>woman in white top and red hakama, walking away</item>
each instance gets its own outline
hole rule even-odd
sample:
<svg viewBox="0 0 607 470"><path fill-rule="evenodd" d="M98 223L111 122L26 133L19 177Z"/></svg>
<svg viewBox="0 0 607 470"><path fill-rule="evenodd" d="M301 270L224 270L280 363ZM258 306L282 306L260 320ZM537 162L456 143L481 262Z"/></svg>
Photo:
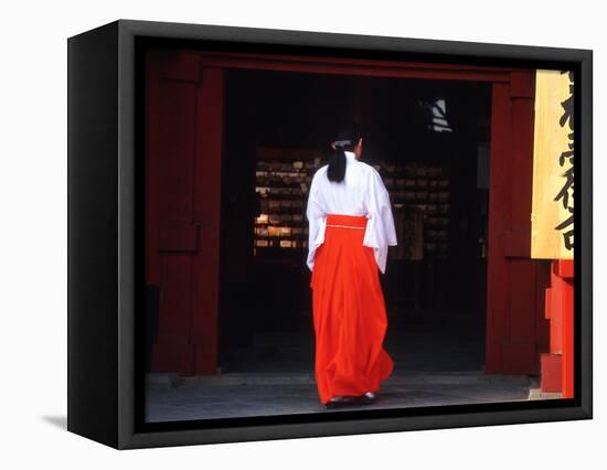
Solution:
<svg viewBox="0 0 607 470"><path fill-rule="evenodd" d="M315 375L328 408L373 402L394 367L382 345L387 318L377 269L385 273L396 233L380 173L360 161L362 146L358 129L340 132L308 195Z"/></svg>

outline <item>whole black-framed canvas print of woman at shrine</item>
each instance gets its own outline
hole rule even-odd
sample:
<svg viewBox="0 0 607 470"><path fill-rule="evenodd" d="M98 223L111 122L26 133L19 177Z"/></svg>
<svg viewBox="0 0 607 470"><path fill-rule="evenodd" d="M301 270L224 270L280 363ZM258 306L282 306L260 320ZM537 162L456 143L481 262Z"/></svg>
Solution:
<svg viewBox="0 0 607 470"><path fill-rule="evenodd" d="M592 418L592 51L130 20L67 51L68 430Z"/></svg>

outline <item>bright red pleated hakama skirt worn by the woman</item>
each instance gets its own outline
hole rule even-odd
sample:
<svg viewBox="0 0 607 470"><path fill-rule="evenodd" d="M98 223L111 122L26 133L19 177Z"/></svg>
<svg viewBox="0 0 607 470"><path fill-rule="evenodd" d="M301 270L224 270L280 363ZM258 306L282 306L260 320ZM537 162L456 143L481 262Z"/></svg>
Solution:
<svg viewBox="0 0 607 470"><path fill-rule="evenodd" d="M312 288L315 375L320 402L379 392L394 363L383 349L387 328L373 248L363 246L368 218L328 214L315 253Z"/></svg>

